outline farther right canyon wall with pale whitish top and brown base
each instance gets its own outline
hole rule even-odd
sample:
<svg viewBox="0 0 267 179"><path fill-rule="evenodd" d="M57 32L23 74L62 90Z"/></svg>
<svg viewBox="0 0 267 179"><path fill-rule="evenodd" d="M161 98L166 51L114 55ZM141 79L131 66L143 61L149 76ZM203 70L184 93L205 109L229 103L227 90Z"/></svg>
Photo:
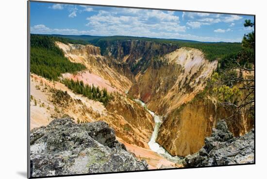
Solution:
<svg viewBox="0 0 267 179"><path fill-rule="evenodd" d="M138 76L129 95L165 115L200 93L216 68L217 61L205 60L200 50L180 48L153 61Z"/></svg>

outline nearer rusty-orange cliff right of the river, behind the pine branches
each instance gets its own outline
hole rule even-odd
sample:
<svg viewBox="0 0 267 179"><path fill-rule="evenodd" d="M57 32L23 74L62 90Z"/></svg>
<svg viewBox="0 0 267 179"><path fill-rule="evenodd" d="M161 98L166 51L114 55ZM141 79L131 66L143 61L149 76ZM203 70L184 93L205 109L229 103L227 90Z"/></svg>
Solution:
<svg viewBox="0 0 267 179"><path fill-rule="evenodd" d="M220 119L226 119L234 136L248 133L253 128L254 119L246 114L229 118L234 110L220 105L215 98L198 96L166 116L157 142L171 155L185 157L200 150L205 137L212 134L212 128Z"/></svg>

